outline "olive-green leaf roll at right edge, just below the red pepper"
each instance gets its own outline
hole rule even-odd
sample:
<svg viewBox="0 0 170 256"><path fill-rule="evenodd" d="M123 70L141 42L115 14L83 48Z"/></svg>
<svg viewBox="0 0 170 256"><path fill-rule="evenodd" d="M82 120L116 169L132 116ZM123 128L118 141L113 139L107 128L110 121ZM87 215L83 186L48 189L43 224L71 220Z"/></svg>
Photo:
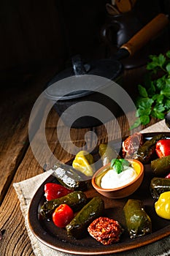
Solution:
<svg viewBox="0 0 170 256"><path fill-rule="evenodd" d="M170 156L161 157L151 162L151 169L156 177L165 177L170 170Z"/></svg>

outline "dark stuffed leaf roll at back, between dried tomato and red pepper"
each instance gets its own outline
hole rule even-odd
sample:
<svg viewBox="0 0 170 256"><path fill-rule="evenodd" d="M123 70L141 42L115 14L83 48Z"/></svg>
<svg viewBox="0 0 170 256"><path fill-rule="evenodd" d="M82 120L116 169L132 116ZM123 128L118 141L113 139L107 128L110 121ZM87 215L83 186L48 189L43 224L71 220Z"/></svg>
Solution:
<svg viewBox="0 0 170 256"><path fill-rule="evenodd" d="M153 154L155 154L155 146L158 140L166 138L165 135L155 135L152 139L147 140L142 146L139 147L135 159L138 159L143 164L147 164L152 159Z"/></svg>

